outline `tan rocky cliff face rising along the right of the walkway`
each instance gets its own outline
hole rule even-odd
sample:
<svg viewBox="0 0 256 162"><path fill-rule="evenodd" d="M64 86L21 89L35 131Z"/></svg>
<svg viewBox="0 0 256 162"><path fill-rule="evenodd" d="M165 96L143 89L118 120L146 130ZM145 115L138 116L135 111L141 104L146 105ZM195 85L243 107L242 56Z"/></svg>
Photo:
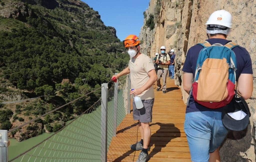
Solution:
<svg viewBox="0 0 256 162"><path fill-rule="evenodd" d="M157 0L150 1L150 6L145 11L147 17L144 19L144 24L148 15L155 14L154 9L158 2ZM215 10L225 9L232 14L233 28L228 39L237 42L248 50L252 59L253 72L256 72L254 54L256 51L255 5L256 2L250 0L162 0L159 14L160 23L155 23L155 27L151 31L146 25L141 29L142 52L148 52L153 57L155 52L159 52L159 47L162 45L165 45L168 51L171 48L176 49L175 84L180 86L184 103L186 103L188 95L183 90L182 85L182 67L186 53L191 46L207 39L204 24ZM220 151L222 161L255 161L256 80L254 79L253 82L254 92L252 97L247 100L252 113L250 125L245 131L228 134Z"/></svg>

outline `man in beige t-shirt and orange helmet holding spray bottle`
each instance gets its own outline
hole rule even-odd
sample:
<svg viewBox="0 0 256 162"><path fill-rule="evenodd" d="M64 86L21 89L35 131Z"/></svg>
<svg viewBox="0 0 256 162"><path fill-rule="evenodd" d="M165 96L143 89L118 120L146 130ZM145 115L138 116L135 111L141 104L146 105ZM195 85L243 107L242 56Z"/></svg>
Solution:
<svg viewBox="0 0 256 162"><path fill-rule="evenodd" d="M141 132L141 141L131 145L133 150L142 150L136 162L148 160L148 145L150 142L151 130L149 122L152 121L152 108L154 104L154 91L152 85L157 80L153 60L140 53L140 41L136 35L129 35L123 41L131 59L129 65L123 71L112 78L119 78L123 75L131 75L131 95L138 95L143 103L143 108L137 109L133 102L133 119L138 120Z"/></svg>

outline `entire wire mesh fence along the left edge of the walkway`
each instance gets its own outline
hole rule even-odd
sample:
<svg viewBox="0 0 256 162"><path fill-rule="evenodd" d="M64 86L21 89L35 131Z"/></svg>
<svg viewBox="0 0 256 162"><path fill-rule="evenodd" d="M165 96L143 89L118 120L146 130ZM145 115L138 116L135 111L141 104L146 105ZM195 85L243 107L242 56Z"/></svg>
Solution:
<svg viewBox="0 0 256 162"><path fill-rule="evenodd" d="M81 115L68 121L59 131L46 139L42 139L41 142L26 151L24 150L22 154L9 159L9 161L105 161L106 153L102 151L104 143L109 155L118 156L120 154L118 148L109 150L110 145L113 142L116 143L116 141L113 141L113 136L125 132L130 128L127 125L134 123L130 114L129 82L129 77L119 79L118 83L108 88L107 93L105 93L106 97L101 97ZM106 98L107 106L103 104L104 98ZM105 109L106 107L107 109ZM107 114L104 115L103 113L102 115L102 112L107 112ZM102 117L106 118L105 129L102 129L105 119ZM133 124L131 127L135 125ZM129 146L130 143L124 143L125 141L119 141L118 143ZM113 158L110 158L109 161L111 159Z"/></svg>

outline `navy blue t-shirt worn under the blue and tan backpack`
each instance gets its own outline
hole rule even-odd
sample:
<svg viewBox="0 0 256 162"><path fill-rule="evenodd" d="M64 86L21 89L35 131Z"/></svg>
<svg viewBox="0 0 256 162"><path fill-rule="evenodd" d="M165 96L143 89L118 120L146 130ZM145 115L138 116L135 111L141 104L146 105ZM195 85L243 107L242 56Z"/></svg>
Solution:
<svg viewBox="0 0 256 162"><path fill-rule="evenodd" d="M212 38L206 40L210 44L220 43L222 45L227 44L228 41L226 39L219 39L219 38ZM189 48L186 60L183 66L182 71L193 73L193 77L195 77L195 71L196 71L196 62L199 55L199 52L203 48L202 45L194 45L191 48ZM252 74L252 60L247 52L247 50L241 46L234 47L232 49L234 53L236 54L236 61L237 61L237 71L236 71L236 81L238 81L238 78L241 73L244 74ZM223 107L217 108L217 109L210 109L205 106L202 106L194 101L193 95L191 94L189 99L189 106L186 108L186 113L194 112L194 111L219 111L221 112Z"/></svg>

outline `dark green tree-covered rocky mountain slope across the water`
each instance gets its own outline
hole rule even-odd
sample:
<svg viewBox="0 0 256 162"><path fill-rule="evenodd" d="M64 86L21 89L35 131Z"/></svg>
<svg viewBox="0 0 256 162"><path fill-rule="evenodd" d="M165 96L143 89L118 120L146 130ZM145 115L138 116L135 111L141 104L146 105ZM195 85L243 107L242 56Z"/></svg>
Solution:
<svg viewBox="0 0 256 162"><path fill-rule="evenodd" d="M113 27L80 0L0 0L0 129L14 128L109 82L129 60ZM43 96L19 104L1 104ZM99 91L9 136L57 131ZM84 104L87 103L87 104Z"/></svg>

